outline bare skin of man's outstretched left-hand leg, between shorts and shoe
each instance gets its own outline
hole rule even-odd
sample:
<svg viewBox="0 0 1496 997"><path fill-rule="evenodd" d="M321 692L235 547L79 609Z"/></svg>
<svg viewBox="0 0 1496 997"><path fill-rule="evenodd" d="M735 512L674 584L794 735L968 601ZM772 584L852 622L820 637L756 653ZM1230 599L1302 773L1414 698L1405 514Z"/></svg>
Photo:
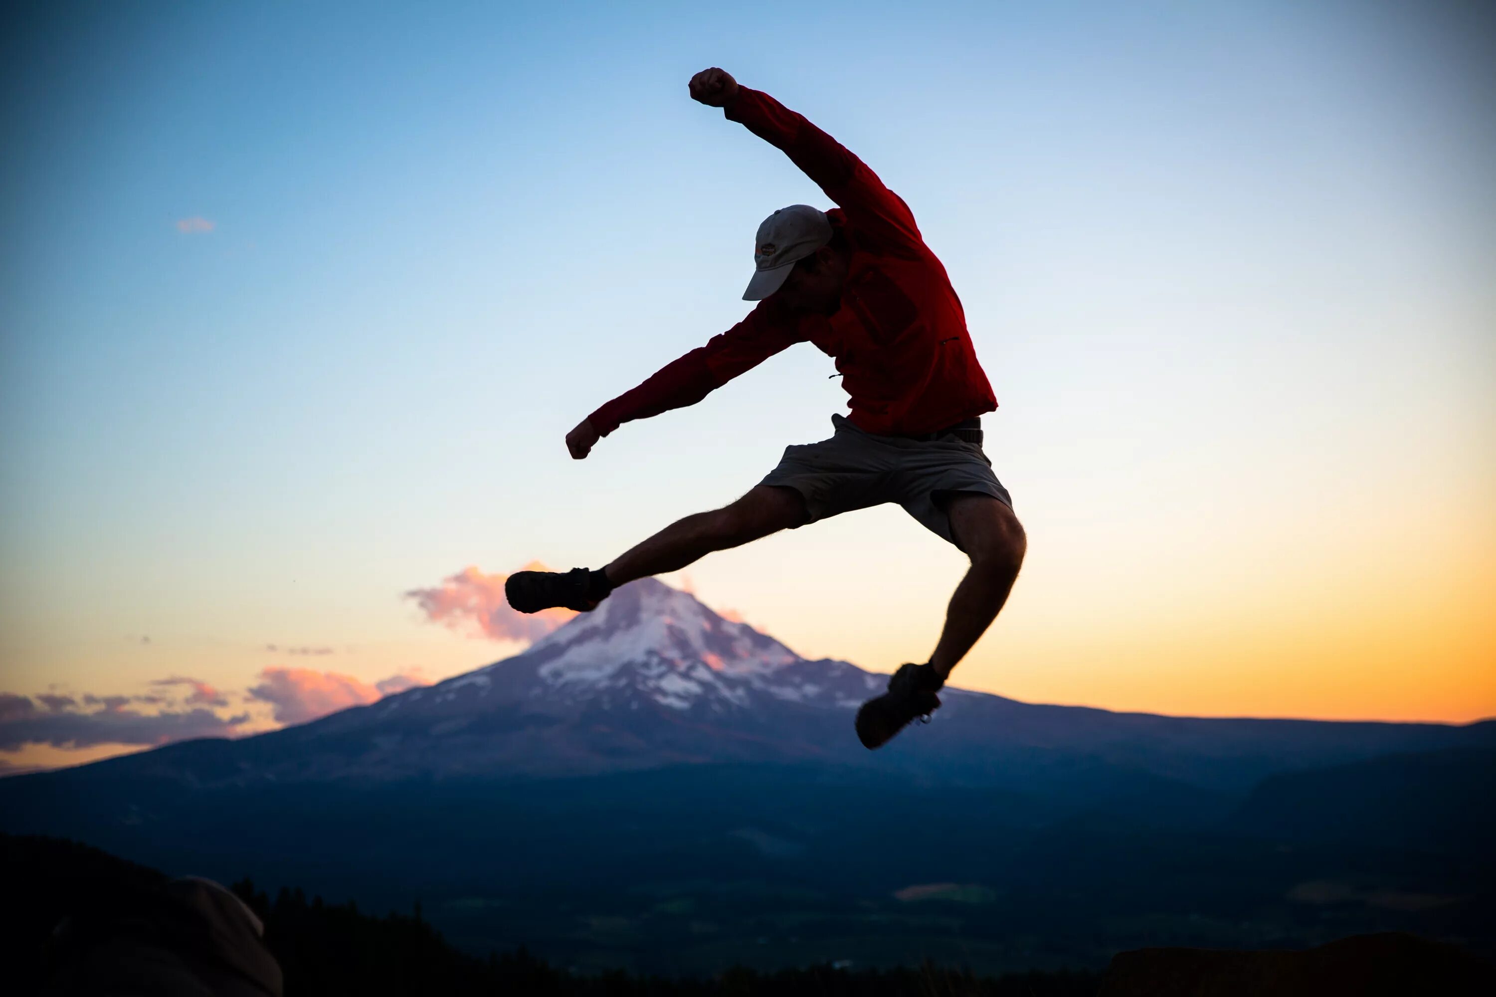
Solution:
<svg viewBox="0 0 1496 997"><path fill-rule="evenodd" d="M805 498L799 492L784 486L758 484L732 505L670 523L603 571L615 586L666 571L679 571L714 550L727 550L799 526L805 519Z"/></svg>

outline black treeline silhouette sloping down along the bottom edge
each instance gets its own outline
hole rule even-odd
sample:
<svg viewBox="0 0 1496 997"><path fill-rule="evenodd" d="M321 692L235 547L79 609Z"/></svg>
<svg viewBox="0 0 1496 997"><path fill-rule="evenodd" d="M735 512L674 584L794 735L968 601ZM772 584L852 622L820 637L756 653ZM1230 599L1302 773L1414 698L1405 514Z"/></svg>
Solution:
<svg viewBox="0 0 1496 997"><path fill-rule="evenodd" d="M919 969L845 970L829 966L758 973L732 969L714 979L666 979L610 972L580 976L536 955L462 952L420 916L370 916L356 904L307 900L281 889L275 900L244 880L233 892L265 921L265 942L286 973L286 997L356 993L452 994L455 997L536 994L564 997L1091 997L1092 973L1019 973L980 978L925 964Z"/></svg>

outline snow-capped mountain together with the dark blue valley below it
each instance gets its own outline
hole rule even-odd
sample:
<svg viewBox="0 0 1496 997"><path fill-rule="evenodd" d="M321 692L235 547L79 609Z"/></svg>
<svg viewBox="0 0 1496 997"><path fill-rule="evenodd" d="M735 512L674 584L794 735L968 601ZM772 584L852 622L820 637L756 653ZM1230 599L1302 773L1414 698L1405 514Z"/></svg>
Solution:
<svg viewBox="0 0 1496 997"><path fill-rule="evenodd" d="M886 676L646 580L525 653L236 741L0 780L0 830L408 907L476 951L711 972L1098 967L1405 928L1490 952L1496 723L1191 719Z"/></svg>

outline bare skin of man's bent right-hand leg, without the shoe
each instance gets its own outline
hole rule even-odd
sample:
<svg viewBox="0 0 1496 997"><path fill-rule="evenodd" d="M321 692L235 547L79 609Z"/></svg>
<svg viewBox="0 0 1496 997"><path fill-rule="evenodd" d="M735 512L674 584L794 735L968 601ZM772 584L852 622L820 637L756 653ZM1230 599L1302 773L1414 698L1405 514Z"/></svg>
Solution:
<svg viewBox="0 0 1496 997"><path fill-rule="evenodd" d="M989 495L953 495L947 514L956 543L971 558L971 568L950 596L945 628L931 655L931 668L941 682L950 677L956 662L966 656L996 619L1013 590L1028 549L1017 516Z"/></svg>

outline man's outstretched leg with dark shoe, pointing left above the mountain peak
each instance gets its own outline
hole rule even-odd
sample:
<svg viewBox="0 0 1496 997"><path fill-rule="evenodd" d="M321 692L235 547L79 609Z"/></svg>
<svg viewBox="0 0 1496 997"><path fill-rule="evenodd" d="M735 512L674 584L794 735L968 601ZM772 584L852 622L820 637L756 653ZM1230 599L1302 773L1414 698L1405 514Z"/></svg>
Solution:
<svg viewBox="0 0 1496 997"><path fill-rule="evenodd" d="M747 544L799 526L806 519L805 499L799 492L758 484L732 505L670 523L598 571L518 571L506 580L504 595L521 613L539 613L555 605L589 610L625 581L679 571L714 550Z"/></svg>

